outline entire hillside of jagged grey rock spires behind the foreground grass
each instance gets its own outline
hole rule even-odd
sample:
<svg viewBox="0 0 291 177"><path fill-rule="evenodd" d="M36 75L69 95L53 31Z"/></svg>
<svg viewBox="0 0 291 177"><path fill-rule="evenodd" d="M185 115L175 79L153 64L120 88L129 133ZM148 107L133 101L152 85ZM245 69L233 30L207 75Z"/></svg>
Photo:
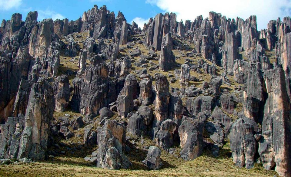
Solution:
<svg viewBox="0 0 291 177"><path fill-rule="evenodd" d="M291 177L290 17L258 31L255 15L216 12L159 13L143 29L105 5L75 21L37 16L0 27L1 164L93 152L84 159L102 169L159 170L164 153L226 147L239 168Z"/></svg>

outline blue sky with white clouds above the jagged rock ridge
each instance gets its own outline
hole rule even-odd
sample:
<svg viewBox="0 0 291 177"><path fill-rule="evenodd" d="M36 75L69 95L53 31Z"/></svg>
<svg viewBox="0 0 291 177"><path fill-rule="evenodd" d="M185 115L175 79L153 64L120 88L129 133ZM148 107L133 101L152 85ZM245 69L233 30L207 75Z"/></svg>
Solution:
<svg viewBox="0 0 291 177"><path fill-rule="evenodd" d="M291 0L0 0L0 19L10 19L13 13L22 14L22 20L29 11L38 11L38 20L43 18L68 18L76 20L84 11L106 5L107 9L122 11L127 22L132 20L142 24L157 13L174 12L177 21L182 19L193 21L196 16L208 17L209 11L216 11L227 18L237 16L246 19L257 15L258 29L266 28L269 20L283 19L291 14Z"/></svg>

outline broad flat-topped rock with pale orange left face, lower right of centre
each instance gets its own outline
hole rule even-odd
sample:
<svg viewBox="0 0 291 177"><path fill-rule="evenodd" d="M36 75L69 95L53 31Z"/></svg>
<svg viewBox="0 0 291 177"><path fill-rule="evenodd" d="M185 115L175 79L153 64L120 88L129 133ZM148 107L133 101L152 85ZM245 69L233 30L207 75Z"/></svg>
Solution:
<svg viewBox="0 0 291 177"><path fill-rule="evenodd" d="M179 126L180 155L185 160L193 160L202 154L203 150L203 121L185 118Z"/></svg>

